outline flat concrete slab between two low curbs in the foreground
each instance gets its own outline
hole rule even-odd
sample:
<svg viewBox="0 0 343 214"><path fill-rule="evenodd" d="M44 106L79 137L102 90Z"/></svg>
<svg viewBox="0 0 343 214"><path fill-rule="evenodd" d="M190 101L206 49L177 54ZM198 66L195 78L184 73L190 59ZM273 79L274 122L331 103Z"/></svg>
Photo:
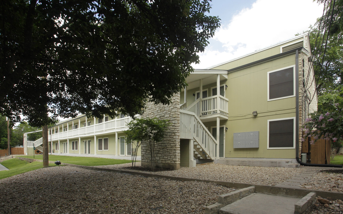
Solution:
<svg viewBox="0 0 343 214"><path fill-rule="evenodd" d="M299 198L253 193L224 206L220 214L293 214Z"/></svg>

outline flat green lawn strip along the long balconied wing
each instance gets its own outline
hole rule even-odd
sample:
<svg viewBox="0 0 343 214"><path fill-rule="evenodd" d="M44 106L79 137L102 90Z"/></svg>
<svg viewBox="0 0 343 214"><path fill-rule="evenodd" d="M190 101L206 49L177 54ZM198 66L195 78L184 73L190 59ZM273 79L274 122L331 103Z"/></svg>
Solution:
<svg viewBox="0 0 343 214"><path fill-rule="evenodd" d="M33 158L33 155L16 155L18 157ZM43 160L43 155L35 155L34 159ZM99 157L73 157L62 155L49 155L50 161L59 160L62 163L82 165L82 166L101 166L101 165L114 165L131 163L131 160L120 160Z"/></svg>

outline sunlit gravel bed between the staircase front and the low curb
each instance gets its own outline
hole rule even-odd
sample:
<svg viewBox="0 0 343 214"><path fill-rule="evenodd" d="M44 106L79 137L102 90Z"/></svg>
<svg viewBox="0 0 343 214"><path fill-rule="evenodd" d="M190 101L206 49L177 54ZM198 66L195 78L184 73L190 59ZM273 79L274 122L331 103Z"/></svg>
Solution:
<svg viewBox="0 0 343 214"><path fill-rule="evenodd" d="M102 168L122 169L129 164L98 166ZM140 166L140 162L136 163ZM138 171L138 170L133 170ZM157 171L155 174L177 176L184 178L198 178L206 180L221 180L229 182L251 183L275 186L284 180L295 177L306 171L304 168L258 167L258 166L230 166L223 164L197 165L197 167L181 167L173 171Z"/></svg>

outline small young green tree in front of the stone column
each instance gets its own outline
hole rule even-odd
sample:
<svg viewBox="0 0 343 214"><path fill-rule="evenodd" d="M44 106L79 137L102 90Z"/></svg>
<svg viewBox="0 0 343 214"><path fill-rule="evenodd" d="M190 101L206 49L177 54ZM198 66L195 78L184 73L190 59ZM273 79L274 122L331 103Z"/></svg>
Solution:
<svg viewBox="0 0 343 214"><path fill-rule="evenodd" d="M155 170L156 143L160 142L164 138L168 124L168 120L160 120L158 118L141 118L131 121L129 123L129 130L125 131L127 134L127 143L137 142L138 145L139 142L141 142L142 144L146 144L150 153L152 170Z"/></svg>

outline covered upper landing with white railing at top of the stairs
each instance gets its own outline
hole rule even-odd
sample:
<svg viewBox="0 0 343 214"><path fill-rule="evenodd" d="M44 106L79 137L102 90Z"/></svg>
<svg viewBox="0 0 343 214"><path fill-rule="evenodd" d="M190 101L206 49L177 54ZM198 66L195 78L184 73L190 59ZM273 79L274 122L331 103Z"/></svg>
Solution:
<svg viewBox="0 0 343 214"><path fill-rule="evenodd" d="M226 70L195 70L187 79L188 86L181 91L180 108L196 114L201 121L228 119Z"/></svg>

